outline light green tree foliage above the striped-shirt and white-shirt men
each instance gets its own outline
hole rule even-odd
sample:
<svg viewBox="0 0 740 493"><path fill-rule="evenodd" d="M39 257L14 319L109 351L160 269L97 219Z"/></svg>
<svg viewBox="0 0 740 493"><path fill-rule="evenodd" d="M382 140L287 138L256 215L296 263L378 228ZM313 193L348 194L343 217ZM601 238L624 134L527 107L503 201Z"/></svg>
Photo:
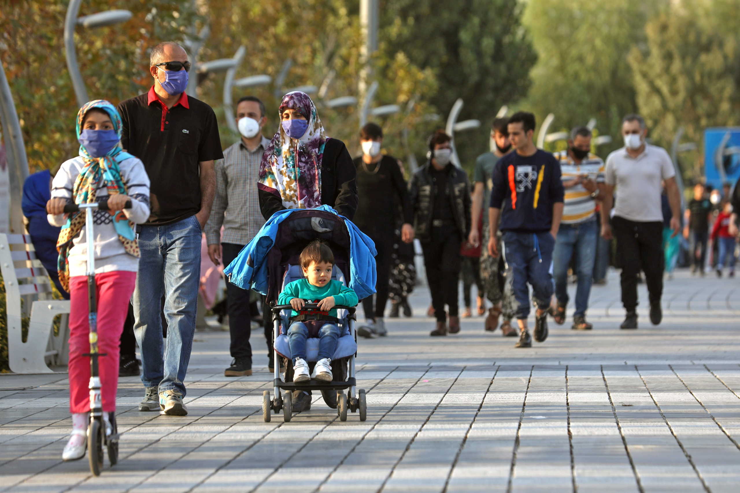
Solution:
<svg viewBox="0 0 740 493"><path fill-rule="evenodd" d="M644 26L656 2L640 0L530 0L524 24L532 33L538 58L532 89L522 109L541 123L555 120L550 132L568 131L596 118L613 144L622 146L622 117L637 111L627 55L645 39Z"/></svg>

